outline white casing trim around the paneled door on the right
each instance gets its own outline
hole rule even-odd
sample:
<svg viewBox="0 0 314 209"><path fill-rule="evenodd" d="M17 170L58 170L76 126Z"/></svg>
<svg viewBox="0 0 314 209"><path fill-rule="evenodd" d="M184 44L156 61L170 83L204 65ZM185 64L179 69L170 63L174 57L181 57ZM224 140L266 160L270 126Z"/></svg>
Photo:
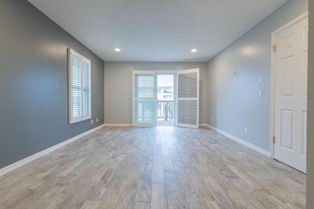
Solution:
<svg viewBox="0 0 314 209"><path fill-rule="evenodd" d="M285 30L286 28L290 27L291 25L303 20L304 18L309 16L309 11L304 12L302 15L296 17L295 19L291 20L290 22L284 24L277 30L271 33L271 46L276 44L276 35L281 31ZM273 136L274 136L274 129L275 129L275 69L276 69L276 53L273 52L271 48L271 68L270 68L270 157L274 158L274 143L273 143Z"/></svg>

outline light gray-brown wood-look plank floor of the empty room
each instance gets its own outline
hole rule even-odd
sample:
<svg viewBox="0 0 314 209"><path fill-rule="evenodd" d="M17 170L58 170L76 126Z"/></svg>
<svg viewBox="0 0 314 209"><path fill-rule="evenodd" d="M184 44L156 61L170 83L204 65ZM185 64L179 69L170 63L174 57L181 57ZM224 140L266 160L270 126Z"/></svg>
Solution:
<svg viewBox="0 0 314 209"><path fill-rule="evenodd" d="M209 128L105 127L0 177L0 208L302 209L305 185Z"/></svg>

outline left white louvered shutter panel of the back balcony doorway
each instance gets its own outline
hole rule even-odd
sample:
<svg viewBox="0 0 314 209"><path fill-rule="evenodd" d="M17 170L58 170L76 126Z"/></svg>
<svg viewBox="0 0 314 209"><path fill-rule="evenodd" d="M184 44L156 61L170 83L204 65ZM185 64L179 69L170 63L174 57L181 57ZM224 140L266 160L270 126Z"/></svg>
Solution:
<svg viewBox="0 0 314 209"><path fill-rule="evenodd" d="M154 126L155 72L133 70L133 126Z"/></svg>

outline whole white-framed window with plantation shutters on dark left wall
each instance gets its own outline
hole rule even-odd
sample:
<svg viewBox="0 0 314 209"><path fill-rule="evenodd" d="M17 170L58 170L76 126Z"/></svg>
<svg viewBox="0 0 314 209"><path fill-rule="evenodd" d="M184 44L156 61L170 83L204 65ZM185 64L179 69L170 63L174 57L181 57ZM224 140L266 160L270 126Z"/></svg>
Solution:
<svg viewBox="0 0 314 209"><path fill-rule="evenodd" d="M69 50L69 123L91 118L91 62Z"/></svg>

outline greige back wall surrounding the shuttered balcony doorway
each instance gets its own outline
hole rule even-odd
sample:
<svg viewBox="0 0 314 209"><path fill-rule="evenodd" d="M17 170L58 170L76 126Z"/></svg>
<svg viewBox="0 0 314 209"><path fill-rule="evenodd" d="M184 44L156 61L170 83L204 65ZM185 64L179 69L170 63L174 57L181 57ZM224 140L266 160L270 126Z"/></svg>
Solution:
<svg viewBox="0 0 314 209"><path fill-rule="evenodd" d="M207 63L105 62L105 124L132 123L132 70L200 69L200 120L207 123Z"/></svg>

